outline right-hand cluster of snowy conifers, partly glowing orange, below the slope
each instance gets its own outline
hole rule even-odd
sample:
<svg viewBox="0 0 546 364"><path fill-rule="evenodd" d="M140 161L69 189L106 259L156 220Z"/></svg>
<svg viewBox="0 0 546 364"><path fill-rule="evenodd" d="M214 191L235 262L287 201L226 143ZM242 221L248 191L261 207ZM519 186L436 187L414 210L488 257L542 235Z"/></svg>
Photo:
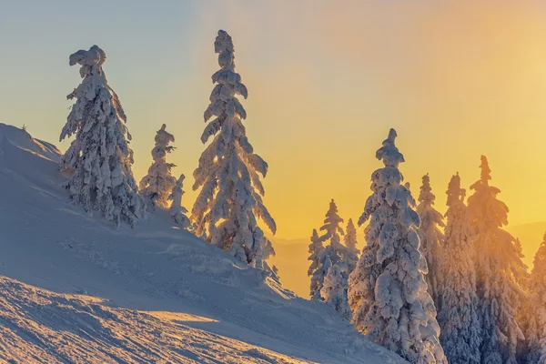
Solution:
<svg viewBox="0 0 546 364"><path fill-rule="evenodd" d="M376 154L384 167L359 218L369 221L361 254L351 219L339 244L333 200L324 234L313 231L311 298L412 363L546 363L546 235L529 274L520 241L503 229L508 207L483 156L468 205L459 174L445 216L433 207L429 175L415 201L402 186L396 136L391 129Z"/></svg>

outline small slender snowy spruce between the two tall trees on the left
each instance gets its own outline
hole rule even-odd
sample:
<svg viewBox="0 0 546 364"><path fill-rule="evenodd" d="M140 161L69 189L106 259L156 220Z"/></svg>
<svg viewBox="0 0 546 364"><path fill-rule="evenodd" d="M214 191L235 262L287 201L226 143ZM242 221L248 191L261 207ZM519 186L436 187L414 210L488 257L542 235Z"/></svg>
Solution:
<svg viewBox="0 0 546 364"><path fill-rule="evenodd" d="M168 196L173 187L177 184L177 178L171 175L171 170L175 166L173 163L167 163L167 154L171 153L175 147L169 146L174 143L175 136L167 132L166 125L163 124L157 131L155 138L156 146L152 149L152 158L154 162L148 168L148 174L140 181L140 195L144 197L147 206L155 209L157 206L168 208Z"/></svg>

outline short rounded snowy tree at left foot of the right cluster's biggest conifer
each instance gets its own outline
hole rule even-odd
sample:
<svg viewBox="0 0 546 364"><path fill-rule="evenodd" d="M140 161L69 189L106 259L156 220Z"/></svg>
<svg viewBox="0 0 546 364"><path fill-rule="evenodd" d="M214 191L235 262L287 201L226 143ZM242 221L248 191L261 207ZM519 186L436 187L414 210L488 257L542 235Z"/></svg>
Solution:
<svg viewBox="0 0 546 364"><path fill-rule="evenodd" d="M324 284L320 289L320 296L324 303L339 312L343 319L350 319L349 301L347 299L348 266L344 261L339 261L329 267Z"/></svg>

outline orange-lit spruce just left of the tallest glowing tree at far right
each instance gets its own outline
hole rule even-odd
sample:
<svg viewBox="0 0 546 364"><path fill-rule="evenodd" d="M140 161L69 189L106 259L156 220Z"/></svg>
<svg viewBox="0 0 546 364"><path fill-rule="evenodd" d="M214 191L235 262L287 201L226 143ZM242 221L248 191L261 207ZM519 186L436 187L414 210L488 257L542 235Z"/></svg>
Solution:
<svg viewBox="0 0 546 364"><path fill-rule="evenodd" d="M459 174L451 177L446 193L448 221L443 253L438 257L440 343L450 364L480 364L474 238Z"/></svg>

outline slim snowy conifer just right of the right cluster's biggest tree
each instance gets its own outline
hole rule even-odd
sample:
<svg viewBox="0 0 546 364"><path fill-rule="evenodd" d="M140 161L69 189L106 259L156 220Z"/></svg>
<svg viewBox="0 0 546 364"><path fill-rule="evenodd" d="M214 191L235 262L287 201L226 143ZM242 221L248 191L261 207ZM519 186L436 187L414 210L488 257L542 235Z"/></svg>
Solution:
<svg viewBox="0 0 546 364"><path fill-rule="evenodd" d="M434 208L436 196L432 193L430 187L429 174L423 176L423 184L420 187L420 194L417 206L417 213L420 217L420 227L418 229L421 251L427 260L429 273L425 276L429 294L436 308L439 308L440 299L438 297L438 260L441 255L441 244L443 242L443 233L440 227L445 227L443 217L440 212Z"/></svg>

